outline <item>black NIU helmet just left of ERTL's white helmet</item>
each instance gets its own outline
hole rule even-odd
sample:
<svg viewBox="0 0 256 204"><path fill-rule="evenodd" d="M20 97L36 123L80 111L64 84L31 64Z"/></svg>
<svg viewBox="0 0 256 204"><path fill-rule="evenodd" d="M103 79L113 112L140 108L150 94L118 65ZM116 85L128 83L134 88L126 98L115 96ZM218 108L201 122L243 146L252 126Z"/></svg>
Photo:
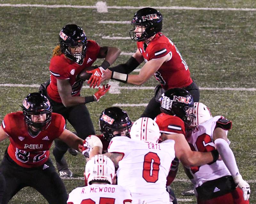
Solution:
<svg viewBox="0 0 256 204"><path fill-rule="evenodd" d="M110 107L102 111L99 118L100 131L103 134L103 137L110 141L115 136L113 132L116 130L121 130L127 128L127 133L125 136L129 136L130 129L132 127L132 121L129 115L118 107Z"/></svg>

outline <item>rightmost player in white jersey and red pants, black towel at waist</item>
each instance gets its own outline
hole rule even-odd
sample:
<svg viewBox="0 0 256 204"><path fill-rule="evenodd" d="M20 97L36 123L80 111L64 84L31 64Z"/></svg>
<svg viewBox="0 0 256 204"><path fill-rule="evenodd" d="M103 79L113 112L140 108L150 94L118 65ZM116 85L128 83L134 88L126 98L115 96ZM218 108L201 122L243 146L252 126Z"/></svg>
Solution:
<svg viewBox="0 0 256 204"><path fill-rule="evenodd" d="M194 118L187 134L187 141L193 151L209 152L218 149L222 160L190 167L196 185L198 204L248 204L250 186L243 180L236 165L236 159L227 138L232 121L221 115L212 117L202 103L194 103Z"/></svg>

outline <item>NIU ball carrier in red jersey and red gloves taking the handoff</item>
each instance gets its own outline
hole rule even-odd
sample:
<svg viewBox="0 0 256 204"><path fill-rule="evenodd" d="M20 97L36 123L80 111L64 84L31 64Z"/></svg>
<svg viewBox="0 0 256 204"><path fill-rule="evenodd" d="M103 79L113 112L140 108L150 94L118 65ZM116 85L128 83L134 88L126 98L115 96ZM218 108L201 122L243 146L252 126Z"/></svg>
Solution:
<svg viewBox="0 0 256 204"><path fill-rule="evenodd" d="M99 68L89 71L92 74L89 82L95 87L102 70L115 62L120 50L116 47L100 47L97 42L87 40L84 30L74 24L64 26L59 39L60 45L54 48L50 62L51 83L47 87L47 97L52 104L52 112L61 114L74 127L76 134L85 139L95 134L85 104L98 101L110 86L103 85L94 95L82 97L80 90L84 81L79 78L79 74L91 67L97 58L105 58ZM62 177L72 177L63 157L67 149L64 142L55 140L53 155Z"/></svg>

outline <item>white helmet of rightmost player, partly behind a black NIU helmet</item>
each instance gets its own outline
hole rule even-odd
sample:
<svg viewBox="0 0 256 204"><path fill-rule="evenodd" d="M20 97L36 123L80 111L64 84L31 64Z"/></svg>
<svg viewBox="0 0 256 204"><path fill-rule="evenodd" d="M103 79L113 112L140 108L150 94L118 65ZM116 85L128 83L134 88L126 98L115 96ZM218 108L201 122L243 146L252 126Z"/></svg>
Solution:
<svg viewBox="0 0 256 204"><path fill-rule="evenodd" d="M198 126L201 123L212 118L212 113L210 109L207 106L205 106L203 103L195 102L194 107L195 107L194 114L196 117L192 121L192 124L190 125L191 127Z"/></svg>

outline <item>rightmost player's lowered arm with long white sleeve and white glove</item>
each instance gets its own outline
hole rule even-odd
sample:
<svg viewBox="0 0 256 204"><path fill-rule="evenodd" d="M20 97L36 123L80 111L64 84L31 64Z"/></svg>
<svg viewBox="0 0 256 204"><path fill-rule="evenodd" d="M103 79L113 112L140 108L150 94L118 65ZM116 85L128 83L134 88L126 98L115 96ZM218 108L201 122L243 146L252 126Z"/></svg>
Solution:
<svg viewBox="0 0 256 204"><path fill-rule="evenodd" d="M215 128L212 136L224 164L227 166L237 186L242 189L244 200L248 200L251 192L250 186L239 173L235 156L227 142L228 139L225 130L222 128Z"/></svg>

